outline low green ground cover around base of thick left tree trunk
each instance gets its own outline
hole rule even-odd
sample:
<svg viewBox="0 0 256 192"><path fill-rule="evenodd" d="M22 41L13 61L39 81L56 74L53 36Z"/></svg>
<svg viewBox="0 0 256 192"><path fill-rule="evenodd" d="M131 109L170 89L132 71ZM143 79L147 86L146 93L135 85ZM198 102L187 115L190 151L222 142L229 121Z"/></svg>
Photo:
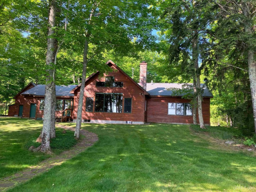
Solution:
<svg viewBox="0 0 256 192"><path fill-rule="evenodd" d="M53 149L69 149L73 147L77 140L74 137L74 132L66 130L66 133L62 133L63 130L56 130L56 137L50 140L50 146ZM25 148L30 148L30 146L39 147L41 143L36 142L38 135L30 137Z"/></svg>

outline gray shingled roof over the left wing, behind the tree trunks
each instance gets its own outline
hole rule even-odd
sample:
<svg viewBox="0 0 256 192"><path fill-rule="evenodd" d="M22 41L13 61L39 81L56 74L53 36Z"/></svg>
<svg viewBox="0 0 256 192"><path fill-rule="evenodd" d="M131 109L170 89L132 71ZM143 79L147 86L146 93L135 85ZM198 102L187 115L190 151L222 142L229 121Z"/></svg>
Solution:
<svg viewBox="0 0 256 192"><path fill-rule="evenodd" d="M74 96L74 94L69 93L73 88L77 85L68 85L68 86L57 86L56 85L56 96ZM35 96L43 96L45 91L45 85L37 85L25 92L22 95L35 95Z"/></svg>

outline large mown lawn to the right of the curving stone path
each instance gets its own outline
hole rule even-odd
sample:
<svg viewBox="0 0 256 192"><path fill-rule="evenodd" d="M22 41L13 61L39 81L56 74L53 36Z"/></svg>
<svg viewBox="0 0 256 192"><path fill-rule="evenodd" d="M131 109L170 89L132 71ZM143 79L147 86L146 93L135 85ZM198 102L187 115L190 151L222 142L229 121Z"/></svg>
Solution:
<svg viewBox="0 0 256 192"><path fill-rule="evenodd" d="M82 126L98 134L96 144L10 191L256 190L256 160L250 152L210 143L187 125Z"/></svg>

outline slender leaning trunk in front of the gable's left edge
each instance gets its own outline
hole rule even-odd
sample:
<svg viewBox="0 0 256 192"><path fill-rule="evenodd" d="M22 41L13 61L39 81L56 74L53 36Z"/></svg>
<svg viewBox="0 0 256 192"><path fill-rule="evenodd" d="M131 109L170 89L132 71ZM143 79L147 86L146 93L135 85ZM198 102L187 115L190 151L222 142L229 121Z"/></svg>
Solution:
<svg viewBox="0 0 256 192"><path fill-rule="evenodd" d="M85 87L86 69L87 69L87 52L88 52L88 41L86 39L85 43L84 43L83 73L82 73L82 82L81 82L81 86L80 86L80 95L79 95L77 118L76 118L76 130L75 130L76 138L79 138L81 123L82 123L84 87Z"/></svg>

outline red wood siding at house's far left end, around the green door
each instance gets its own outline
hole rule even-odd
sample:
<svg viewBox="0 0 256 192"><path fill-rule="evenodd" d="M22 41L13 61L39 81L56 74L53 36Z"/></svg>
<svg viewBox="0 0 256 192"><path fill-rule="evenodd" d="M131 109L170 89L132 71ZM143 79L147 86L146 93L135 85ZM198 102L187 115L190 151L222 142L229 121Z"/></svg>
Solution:
<svg viewBox="0 0 256 192"><path fill-rule="evenodd" d="M24 89L22 91L25 92L31 88L33 88L34 86L32 84L30 84L26 89ZM23 116L22 117L27 117L27 116L24 116L24 111L25 111L25 103L27 103L27 101L25 100L24 96L21 95L21 93L19 95L16 96L15 98L15 105L12 105L9 107L8 109L8 116L14 116L14 115L19 115L19 106L20 105L23 105ZM27 114L27 112L25 111L25 113ZM29 117L29 114L28 114L28 117Z"/></svg>

